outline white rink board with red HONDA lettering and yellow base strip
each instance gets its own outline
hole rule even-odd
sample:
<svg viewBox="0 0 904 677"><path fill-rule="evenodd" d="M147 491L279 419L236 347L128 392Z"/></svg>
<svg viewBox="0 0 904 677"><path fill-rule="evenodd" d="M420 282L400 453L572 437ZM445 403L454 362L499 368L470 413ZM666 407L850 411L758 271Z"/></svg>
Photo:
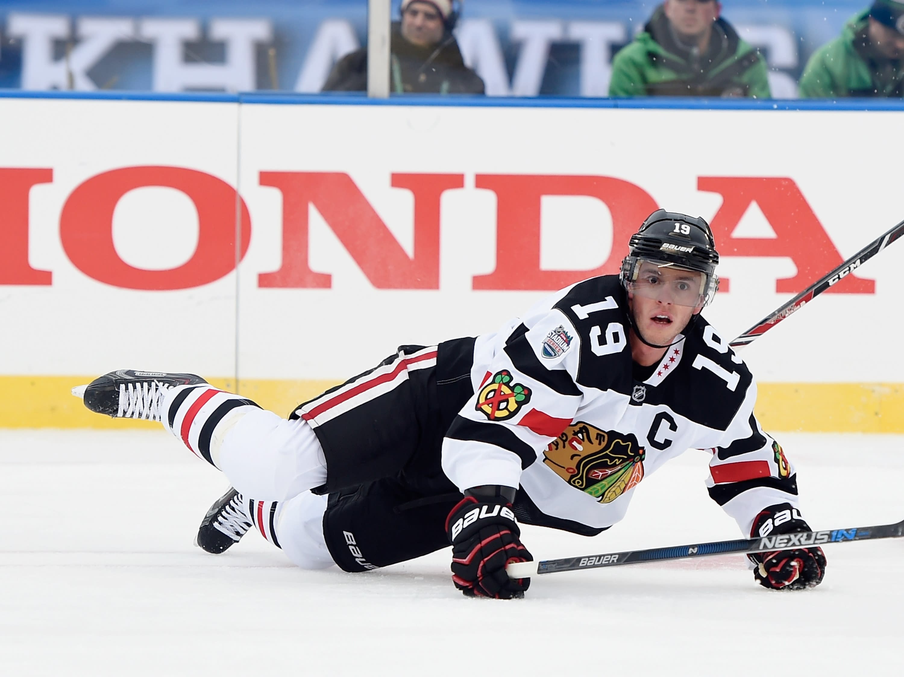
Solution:
<svg viewBox="0 0 904 677"><path fill-rule="evenodd" d="M904 140L825 140L904 109L242 100L0 99L0 427L102 426L68 389L119 368L285 414L615 272L659 206L711 221L733 338L902 216ZM744 349L765 426L904 432L898 261Z"/></svg>

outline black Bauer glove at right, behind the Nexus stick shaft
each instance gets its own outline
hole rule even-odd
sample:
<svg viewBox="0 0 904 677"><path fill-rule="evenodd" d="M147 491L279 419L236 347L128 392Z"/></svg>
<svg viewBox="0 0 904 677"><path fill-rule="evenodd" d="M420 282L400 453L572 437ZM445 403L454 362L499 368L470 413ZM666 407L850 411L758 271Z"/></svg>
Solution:
<svg viewBox="0 0 904 677"><path fill-rule="evenodd" d="M797 531L813 530L790 503L779 503L770 505L757 515L750 538ZM825 555L823 549L818 547L756 552L748 558L754 564L753 576L759 585L773 590L815 588L825 574Z"/></svg>

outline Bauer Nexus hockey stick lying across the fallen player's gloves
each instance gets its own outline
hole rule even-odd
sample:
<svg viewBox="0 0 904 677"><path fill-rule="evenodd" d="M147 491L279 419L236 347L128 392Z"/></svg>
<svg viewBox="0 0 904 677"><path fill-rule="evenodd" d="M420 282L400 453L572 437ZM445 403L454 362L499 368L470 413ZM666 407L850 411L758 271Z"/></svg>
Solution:
<svg viewBox="0 0 904 677"><path fill-rule="evenodd" d="M626 550L625 552L608 552L602 555L587 555L585 557L543 559L540 562L513 562L505 568L505 573L508 574L509 578L529 578L534 574L554 574L560 571L575 571L577 569L619 567L625 564L643 564L644 562L685 559L689 557L708 557L710 555L725 555L731 552L747 554L750 552L789 550L824 545L826 543L897 539L901 536L904 536L904 520L897 524L882 524L875 527L855 527L853 529L835 529L833 531L799 531L798 533L785 533L778 536L742 539L740 541L712 541L710 543L697 543L696 545L678 545L671 548Z"/></svg>

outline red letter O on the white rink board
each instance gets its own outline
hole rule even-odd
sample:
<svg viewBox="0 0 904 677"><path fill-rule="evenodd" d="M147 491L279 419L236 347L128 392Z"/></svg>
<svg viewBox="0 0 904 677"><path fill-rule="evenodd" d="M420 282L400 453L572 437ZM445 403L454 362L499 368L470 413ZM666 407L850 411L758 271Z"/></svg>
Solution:
<svg viewBox="0 0 904 677"><path fill-rule="evenodd" d="M129 191L165 186L185 193L198 211L198 246L178 268L129 266L113 245L113 210ZM239 259L251 237L250 216L236 190L211 174L182 167L125 167L91 177L66 201L60 239L73 265L89 277L127 289L187 289L228 275L236 261L236 202L240 205Z"/></svg>

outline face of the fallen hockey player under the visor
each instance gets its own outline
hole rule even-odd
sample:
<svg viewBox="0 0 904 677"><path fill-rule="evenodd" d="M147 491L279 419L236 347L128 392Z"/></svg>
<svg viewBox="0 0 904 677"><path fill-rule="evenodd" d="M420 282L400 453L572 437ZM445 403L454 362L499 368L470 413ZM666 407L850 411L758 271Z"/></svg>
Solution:
<svg viewBox="0 0 904 677"><path fill-rule="evenodd" d="M640 334L650 343L667 345L702 310L703 274L696 270L638 263L628 285L628 305Z"/></svg>

